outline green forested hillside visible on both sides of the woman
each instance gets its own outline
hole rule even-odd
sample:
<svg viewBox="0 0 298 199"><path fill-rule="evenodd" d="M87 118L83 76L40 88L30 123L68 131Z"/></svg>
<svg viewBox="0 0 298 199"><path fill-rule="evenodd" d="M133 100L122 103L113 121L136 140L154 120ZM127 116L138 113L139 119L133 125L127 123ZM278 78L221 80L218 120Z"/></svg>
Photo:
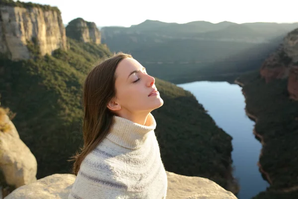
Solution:
<svg viewBox="0 0 298 199"><path fill-rule="evenodd" d="M71 171L67 160L82 144L83 80L91 66L110 55L103 44L68 41L68 51L58 49L52 56L18 62L0 57L1 104L16 113L13 122L38 162L37 178ZM30 49L37 49L34 42ZM166 170L209 178L236 190L231 176L232 138L190 92L158 78L156 87L164 105L152 114Z"/></svg>

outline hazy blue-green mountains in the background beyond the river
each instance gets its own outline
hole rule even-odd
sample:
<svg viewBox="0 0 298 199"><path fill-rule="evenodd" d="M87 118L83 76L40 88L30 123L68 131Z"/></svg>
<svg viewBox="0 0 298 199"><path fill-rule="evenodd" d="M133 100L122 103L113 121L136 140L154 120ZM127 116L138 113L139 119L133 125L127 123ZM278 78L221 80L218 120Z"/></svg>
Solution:
<svg viewBox="0 0 298 199"><path fill-rule="evenodd" d="M129 28L103 27L101 31L102 43L111 51L131 53L158 78L186 83L233 82L239 73L255 70L276 50L280 43L277 38L296 27L298 23L178 24L146 20Z"/></svg>

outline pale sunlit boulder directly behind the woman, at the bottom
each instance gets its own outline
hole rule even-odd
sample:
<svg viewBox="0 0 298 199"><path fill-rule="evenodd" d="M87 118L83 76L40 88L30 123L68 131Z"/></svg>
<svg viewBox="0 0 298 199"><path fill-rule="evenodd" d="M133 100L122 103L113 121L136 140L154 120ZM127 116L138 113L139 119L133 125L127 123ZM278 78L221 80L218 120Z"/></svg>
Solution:
<svg viewBox="0 0 298 199"><path fill-rule="evenodd" d="M206 178L166 173L167 199L237 199ZM54 174L14 190L5 199L67 199L74 180L71 174Z"/></svg>

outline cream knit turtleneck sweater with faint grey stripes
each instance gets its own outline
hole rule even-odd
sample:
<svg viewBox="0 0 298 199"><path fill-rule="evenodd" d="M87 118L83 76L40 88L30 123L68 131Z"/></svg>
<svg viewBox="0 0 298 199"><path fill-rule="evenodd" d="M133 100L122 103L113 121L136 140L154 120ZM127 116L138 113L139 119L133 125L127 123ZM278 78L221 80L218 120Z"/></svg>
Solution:
<svg viewBox="0 0 298 199"><path fill-rule="evenodd" d="M81 163L69 199L165 199L167 176L153 115L145 125L113 119L109 134Z"/></svg>

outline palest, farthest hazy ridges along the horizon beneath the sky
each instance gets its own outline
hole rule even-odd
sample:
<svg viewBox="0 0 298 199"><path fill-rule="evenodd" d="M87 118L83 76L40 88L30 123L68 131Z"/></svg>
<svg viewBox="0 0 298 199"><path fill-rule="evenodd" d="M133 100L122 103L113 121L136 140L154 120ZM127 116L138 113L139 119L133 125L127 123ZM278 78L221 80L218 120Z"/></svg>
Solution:
<svg viewBox="0 0 298 199"><path fill-rule="evenodd" d="M298 27L298 23L268 23L268 22L256 22L256 23L242 23L237 24L229 21L223 21L220 23L211 23L208 21L192 21L189 23L166 23L157 20L146 20L140 24L132 25L131 27L119 27L119 26L106 26L102 27L104 33L126 33L126 34L140 34L147 33L155 36L163 37L200 37L207 36L206 32L212 32L212 36L223 38L226 34L241 35L244 36L263 36L263 37L275 37L281 34L285 34L290 30ZM225 33L225 35L222 35ZM110 35L106 35L110 36ZM228 35L230 36L230 35ZM206 37L208 38L208 37Z"/></svg>

